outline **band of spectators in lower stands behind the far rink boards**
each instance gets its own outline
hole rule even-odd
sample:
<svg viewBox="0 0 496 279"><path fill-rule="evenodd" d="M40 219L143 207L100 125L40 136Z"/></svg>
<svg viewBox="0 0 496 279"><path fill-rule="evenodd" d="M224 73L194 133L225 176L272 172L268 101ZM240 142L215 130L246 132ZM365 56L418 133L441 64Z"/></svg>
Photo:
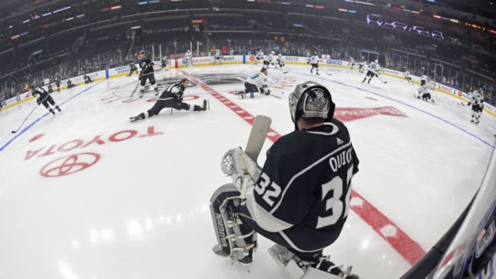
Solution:
<svg viewBox="0 0 496 279"><path fill-rule="evenodd" d="M212 43L216 43L215 41ZM203 49L206 50L207 43ZM232 40L229 43L230 49L226 54L242 55L242 54L255 54L257 50L261 49L265 53L271 51L276 52L276 54L291 55L291 56L309 56L313 52L318 52L318 54L329 54L332 59L349 60L353 57L355 61L366 60L366 57L362 56L362 48L358 46L351 45L341 45L334 44L329 45L325 42L322 43L298 43L285 41L283 38L276 38L272 40L258 40L258 41L247 41L247 40ZM227 47L226 41L218 41L217 45L210 45L211 47L221 48L222 46ZM182 56L184 52L189 48L189 43L183 42L174 44L173 41L169 43L163 43L161 45L163 55L168 55L169 57L174 57L175 54ZM152 50L153 49L153 50ZM54 61L57 65L44 68L39 72L19 72L18 74L12 76L10 79L5 79L0 83L0 101L5 101L14 96L17 96L21 92L28 90L30 85L43 85L45 79L58 78L60 80L68 79L72 76L78 76L88 72L95 72L98 70L104 70L105 68L114 68L121 65L129 65L130 63L136 63L138 61L139 50L145 50L145 52L151 56L152 53L155 54L154 59L160 60L160 53L158 44L145 43L142 45L136 45L134 49L130 51L128 56L123 57L123 53L119 51L107 51L100 54L90 54L87 56L81 56L79 59L67 59L65 61ZM202 52L205 54L206 52ZM193 52L196 55L196 52ZM83 54L81 54L83 55ZM384 56L382 56L381 61L384 61ZM402 56L391 56L387 59L386 68L391 68L393 70L405 71L409 70L412 74L420 76L422 74L428 74L431 79L435 79L437 83L443 83L445 85L455 87L460 90L467 91L473 83L473 78L466 74L465 77L462 73L458 71L457 74L451 74L448 76L447 72L444 75L434 74L433 65L431 64L430 71L426 69L426 61L422 59L411 58L408 63L404 60ZM447 71L447 70L446 70ZM453 72L455 73L455 70ZM461 80L461 79L464 80ZM477 83L475 84L477 86ZM484 83L481 85L483 87L486 102L496 103L495 101L495 87L492 83Z"/></svg>

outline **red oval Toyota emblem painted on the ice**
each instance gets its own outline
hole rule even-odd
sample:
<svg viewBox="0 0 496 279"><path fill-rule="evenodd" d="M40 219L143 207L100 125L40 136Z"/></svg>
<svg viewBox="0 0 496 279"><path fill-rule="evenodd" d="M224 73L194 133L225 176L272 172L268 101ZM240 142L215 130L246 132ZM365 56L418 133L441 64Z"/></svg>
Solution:
<svg viewBox="0 0 496 279"><path fill-rule="evenodd" d="M96 153L79 153L58 158L45 165L40 169L41 176L58 177L81 172L96 164L100 160L100 154Z"/></svg>

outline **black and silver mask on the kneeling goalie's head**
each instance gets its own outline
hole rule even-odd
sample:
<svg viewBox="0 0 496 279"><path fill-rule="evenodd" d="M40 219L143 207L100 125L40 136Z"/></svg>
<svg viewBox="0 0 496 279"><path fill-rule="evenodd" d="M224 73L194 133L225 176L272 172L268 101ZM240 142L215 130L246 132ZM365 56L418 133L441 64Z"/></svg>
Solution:
<svg viewBox="0 0 496 279"><path fill-rule="evenodd" d="M326 87L313 81L296 85L295 90L289 94L289 112L291 120L298 130L298 119L323 118L329 122L334 116L335 104L331 93Z"/></svg>

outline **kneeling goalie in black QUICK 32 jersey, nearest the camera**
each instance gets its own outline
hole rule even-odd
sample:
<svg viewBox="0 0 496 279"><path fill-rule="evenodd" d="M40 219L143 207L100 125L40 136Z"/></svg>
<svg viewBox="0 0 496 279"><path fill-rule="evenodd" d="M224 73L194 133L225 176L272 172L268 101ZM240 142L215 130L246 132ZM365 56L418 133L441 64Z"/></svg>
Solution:
<svg viewBox="0 0 496 279"><path fill-rule="evenodd" d="M347 220L359 162L334 109L326 87L297 85L289 95L295 131L270 147L262 169L240 147L225 154L221 166L233 183L210 200L216 254L249 265L261 234L276 242L269 253L291 278L359 278L322 255Z"/></svg>

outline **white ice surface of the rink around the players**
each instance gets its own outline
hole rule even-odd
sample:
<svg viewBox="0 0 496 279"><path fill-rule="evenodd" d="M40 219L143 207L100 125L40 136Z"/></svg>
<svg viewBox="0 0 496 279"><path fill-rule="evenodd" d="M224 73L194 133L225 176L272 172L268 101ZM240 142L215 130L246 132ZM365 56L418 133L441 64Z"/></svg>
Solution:
<svg viewBox="0 0 496 279"><path fill-rule="evenodd" d="M374 229L351 210L340 238L324 250L364 278L399 278L411 263L391 245L397 228L424 251L444 234L479 187L495 118L484 113L473 125L470 109L457 99L435 92L436 103L429 104L413 98L416 86L388 76L382 76L387 84L374 79L364 85L357 72L315 76L307 66L289 68L289 74L269 70L271 92L282 99L229 94L242 89L242 81L211 88L251 115L270 116L279 134L293 130L291 88L308 80L326 85L337 107L393 106L407 116L345 123L360 158L353 189L363 200L353 198L352 206L366 201L394 225ZM247 76L258 70L221 65L185 71ZM285 278L267 252L271 242L261 236L249 273L211 252L216 238L209 198L229 182L220 158L245 145L251 126L198 86L185 95L199 96L190 101L198 105L209 99L209 111L165 109L129 123L153 105L147 101L153 90L128 100L135 85L135 77L121 77L53 94L63 112L52 116L38 107L17 134L11 131L36 103L0 112L0 278ZM259 163L270 145L267 140ZM83 163L98 154L99 161L73 174L41 176L81 167L73 154Z"/></svg>

